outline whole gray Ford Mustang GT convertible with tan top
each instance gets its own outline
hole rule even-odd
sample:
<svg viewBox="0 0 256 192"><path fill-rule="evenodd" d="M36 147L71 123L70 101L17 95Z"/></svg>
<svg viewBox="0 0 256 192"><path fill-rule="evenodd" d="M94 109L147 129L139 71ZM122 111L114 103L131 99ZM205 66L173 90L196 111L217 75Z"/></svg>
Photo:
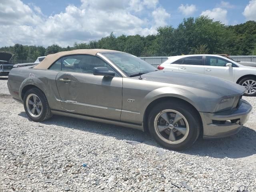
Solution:
<svg viewBox="0 0 256 192"><path fill-rule="evenodd" d="M240 85L199 74L158 71L113 50L48 55L37 66L13 68L8 88L33 121L52 114L149 130L163 146L181 150L199 134L236 134L252 106Z"/></svg>

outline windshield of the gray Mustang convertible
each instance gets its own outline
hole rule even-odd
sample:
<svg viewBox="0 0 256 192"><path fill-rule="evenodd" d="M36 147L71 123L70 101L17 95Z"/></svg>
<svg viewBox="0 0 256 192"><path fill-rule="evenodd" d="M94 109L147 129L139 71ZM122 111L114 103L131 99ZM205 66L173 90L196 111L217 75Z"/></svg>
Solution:
<svg viewBox="0 0 256 192"><path fill-rule="evenodd" d="M122 69L129 77L157 70L144 60L128 53L104 53L104 56Z"/></svg>

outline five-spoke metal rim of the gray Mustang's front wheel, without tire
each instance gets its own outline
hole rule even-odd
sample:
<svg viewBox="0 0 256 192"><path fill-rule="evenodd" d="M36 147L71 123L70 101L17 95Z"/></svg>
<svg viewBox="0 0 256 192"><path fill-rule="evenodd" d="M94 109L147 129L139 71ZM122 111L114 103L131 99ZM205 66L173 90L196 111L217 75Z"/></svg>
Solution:
<svg viewBox="0 0 256 192"><path fill-rule="evenodd" d="M158 137L169 144L179 144L188 137L189 126L186 118L176 110L162 110L154 119Z"/></svg>

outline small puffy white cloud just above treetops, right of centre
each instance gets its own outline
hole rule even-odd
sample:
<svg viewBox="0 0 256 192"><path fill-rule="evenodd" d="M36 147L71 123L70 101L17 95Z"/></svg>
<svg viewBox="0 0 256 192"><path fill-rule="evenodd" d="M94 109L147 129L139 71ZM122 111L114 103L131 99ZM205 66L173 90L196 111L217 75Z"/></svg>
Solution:
<svg viewBox="0 0 256 192"><path fill-rule="evenodd" d="M212 10L205 10L201 13L201 15L209 16L209 18L213 19L214 21L220 21L223 24L228 24L227 19L228 11L222 8L214 8Z"/></svg>

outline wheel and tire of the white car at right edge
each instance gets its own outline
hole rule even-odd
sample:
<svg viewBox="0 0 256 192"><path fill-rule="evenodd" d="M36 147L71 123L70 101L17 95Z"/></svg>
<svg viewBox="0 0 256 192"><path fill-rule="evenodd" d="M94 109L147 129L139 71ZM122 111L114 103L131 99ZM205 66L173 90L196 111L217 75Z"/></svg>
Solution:
<svg viewBox="0 0 256 192"><path fill-rule="evenodd" d="M238 84L246 88L244 96L256 96L256 78L255 77L245 77L242 78Z"/></svg>

